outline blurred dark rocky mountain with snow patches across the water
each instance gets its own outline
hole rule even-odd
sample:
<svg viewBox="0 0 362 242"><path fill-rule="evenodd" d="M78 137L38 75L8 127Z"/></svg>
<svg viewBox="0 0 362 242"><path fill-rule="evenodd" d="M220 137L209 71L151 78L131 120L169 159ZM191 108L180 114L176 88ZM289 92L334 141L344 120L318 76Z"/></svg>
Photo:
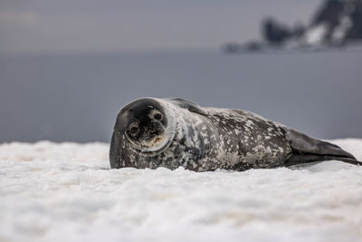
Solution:
<svg viewBox="0 0 362 242"><path fill-rule="evenodd" d="M260 51L270 48L320 49L362 41L362 0L327 0L308 26L279 23L268 17L262 21L262 41L225 44L224 51Z"/></svg>

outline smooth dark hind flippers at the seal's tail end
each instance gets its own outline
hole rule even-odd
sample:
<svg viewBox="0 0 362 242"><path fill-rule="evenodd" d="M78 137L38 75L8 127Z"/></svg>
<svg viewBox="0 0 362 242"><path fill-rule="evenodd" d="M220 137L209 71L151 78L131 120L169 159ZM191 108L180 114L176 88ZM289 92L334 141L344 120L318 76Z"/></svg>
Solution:
<svg viewBox="0 0 362 242"><path fill-rule="evenodd" d="M286 160L286 166L323 160L340 160L354 165L362 165L361 161L356 160L352 154L337 145L310 138L299 131L288 130L286 138L289 140L293 152L291 157Z"/></svg>

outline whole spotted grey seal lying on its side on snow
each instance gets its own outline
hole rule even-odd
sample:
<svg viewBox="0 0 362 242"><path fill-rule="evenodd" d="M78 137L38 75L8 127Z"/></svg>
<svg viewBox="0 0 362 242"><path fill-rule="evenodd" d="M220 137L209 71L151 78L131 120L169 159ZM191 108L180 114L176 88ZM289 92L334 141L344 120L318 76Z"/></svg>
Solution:
<svg viewBox="0 0 362 242"><path fill-rule="evenodd" d="M180 98L142 98L117 116L110 167L258 169L322 160L359 164L337 145L250 111L200 107Z"/></svg>

